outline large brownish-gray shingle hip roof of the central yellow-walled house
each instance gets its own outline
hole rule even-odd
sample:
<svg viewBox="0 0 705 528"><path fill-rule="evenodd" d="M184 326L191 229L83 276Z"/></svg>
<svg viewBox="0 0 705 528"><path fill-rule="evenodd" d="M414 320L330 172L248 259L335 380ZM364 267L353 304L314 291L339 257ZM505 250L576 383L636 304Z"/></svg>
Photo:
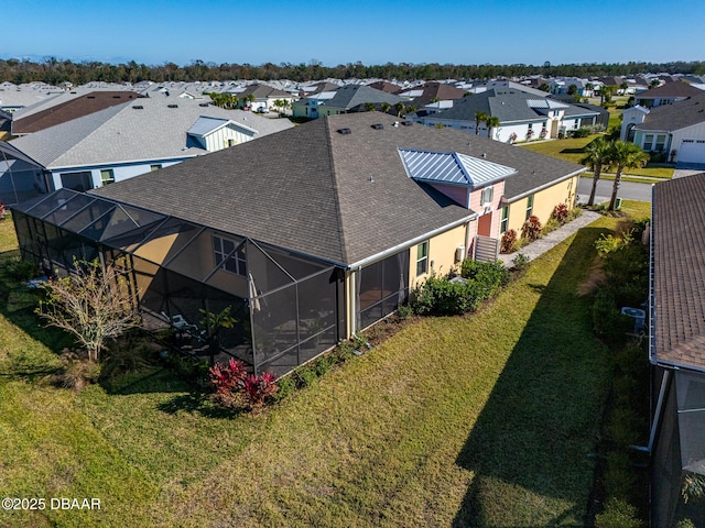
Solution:
<svg viewBox="0 0 705 528"><path fill-rule="evenodd" d="M409 178L400 147L486 153L518 169L506 184L511 193L585 169L465 132L393 121L379 112L323 118L94 193L349 265L473 215Z"/></svg>

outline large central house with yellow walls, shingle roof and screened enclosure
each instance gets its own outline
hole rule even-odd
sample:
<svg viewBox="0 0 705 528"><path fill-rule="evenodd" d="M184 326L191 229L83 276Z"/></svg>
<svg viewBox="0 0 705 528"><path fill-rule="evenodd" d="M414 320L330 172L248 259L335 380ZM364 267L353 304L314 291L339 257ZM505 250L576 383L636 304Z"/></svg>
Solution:
<svg viewBox="0 0 705 528"><path fill-rule="evenodd" d="M392 314L432 273L494 261L511 222L573 206L583 166L405 123L332 116L88 194L58 190L13 209L22 255L51 270L124 254L145 318L178 316L198 336L200 310L231 307L240 323L224 330L223 358L288 372Z"/></svg>

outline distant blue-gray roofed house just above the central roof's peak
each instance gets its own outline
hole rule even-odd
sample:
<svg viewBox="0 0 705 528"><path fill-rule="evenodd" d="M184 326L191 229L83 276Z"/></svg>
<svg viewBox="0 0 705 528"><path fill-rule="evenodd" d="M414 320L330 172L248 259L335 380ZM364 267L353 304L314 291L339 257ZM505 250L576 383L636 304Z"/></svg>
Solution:
<svg viewBox="0 0 705 528"><path fill-rule="evenodd" d="M317 95L300 99L292 106L294 117L317 119L339 113L364 112L367 105L375 105L381 110L384 103L393 109L398 102L405 102L399 96L376 90L365 85L346 85L335 91L322 91Z"/></svg>

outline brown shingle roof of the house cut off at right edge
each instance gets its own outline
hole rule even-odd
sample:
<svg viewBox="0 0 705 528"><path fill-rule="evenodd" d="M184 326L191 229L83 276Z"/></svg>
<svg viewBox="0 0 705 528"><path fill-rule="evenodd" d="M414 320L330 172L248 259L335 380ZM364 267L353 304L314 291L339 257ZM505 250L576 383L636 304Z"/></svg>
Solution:
<svg viewBox="0 0 705 528"><path fill-rule="evenodd" d="M659 362L705 370L705 174L653 189L654 343Z"/></svg>

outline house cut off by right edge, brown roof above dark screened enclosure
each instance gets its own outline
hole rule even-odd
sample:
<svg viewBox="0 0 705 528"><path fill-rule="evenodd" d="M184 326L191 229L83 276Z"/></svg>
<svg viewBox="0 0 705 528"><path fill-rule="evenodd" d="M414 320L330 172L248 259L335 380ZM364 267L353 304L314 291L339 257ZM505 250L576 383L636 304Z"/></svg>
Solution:
<svg viewBox="0 0 705 528"><path fill-rule="evenodd" d="M705 174L653 187L648 451L654 527L674 526L676 516L705 526L705 499L684 504L681 496L687 475L705 479L704 202Z"/></svg>

